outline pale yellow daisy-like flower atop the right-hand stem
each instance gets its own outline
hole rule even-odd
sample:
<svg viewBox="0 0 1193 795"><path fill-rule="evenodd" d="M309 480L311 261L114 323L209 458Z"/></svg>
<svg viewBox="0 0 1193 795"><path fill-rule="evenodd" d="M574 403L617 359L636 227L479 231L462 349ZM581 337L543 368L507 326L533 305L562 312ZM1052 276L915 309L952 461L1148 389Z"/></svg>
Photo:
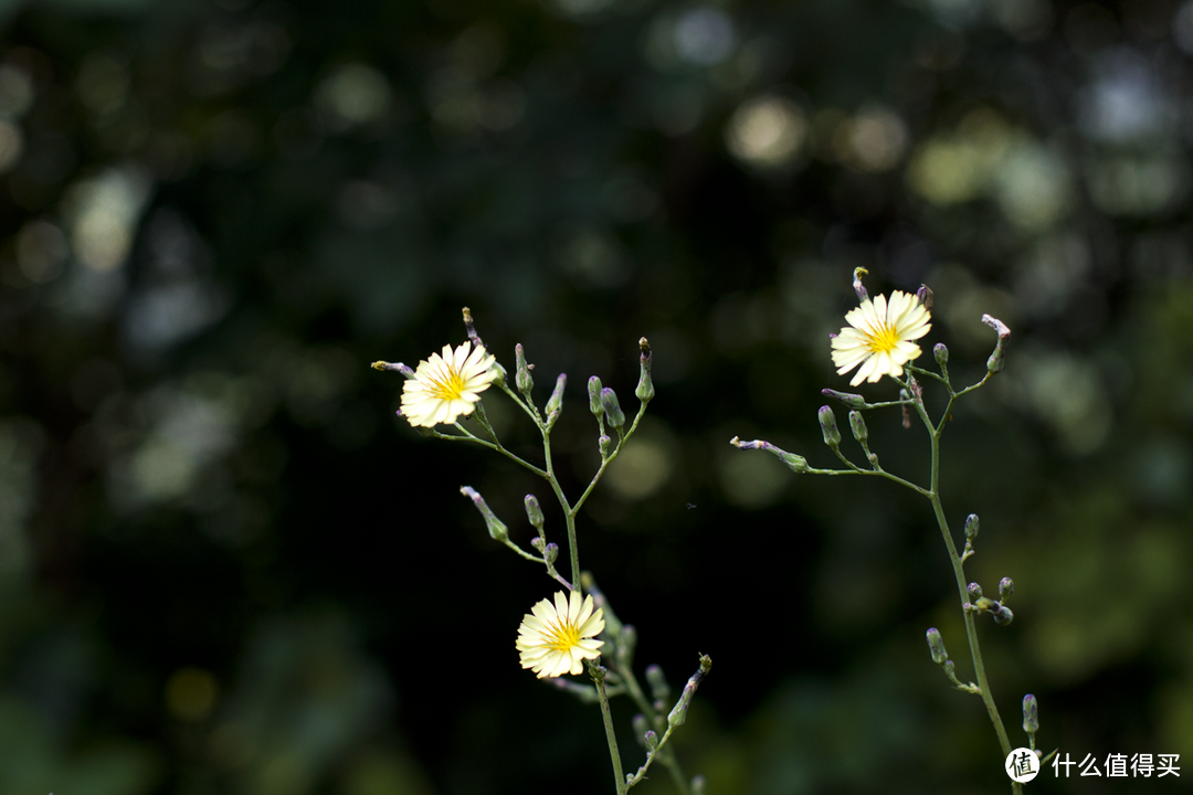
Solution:
<svg viewBox="0 0 1193 795"><path fill-rule="evenodd" d="M903 374L903 365L922 353L911 341L928 333L931 319L932 315L919 298L898 290L891 293L889 302L885 296L863 300L845 316L849 325L833 337L836 374L843 375L861 365L849 386L861 381L873 384L883 375L898 378Z"/></svg>

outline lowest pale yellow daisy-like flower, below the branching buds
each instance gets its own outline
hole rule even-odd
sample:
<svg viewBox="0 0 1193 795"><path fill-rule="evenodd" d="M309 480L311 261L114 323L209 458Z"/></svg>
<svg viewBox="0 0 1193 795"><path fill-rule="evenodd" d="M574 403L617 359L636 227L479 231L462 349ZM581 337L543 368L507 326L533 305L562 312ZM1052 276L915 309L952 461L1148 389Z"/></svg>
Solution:
<svg viewBox="0 0 1193 795"><path fill-rule="evenodd" d="M604 640L596 640L605 629L604 611L593 610L593 597L580 600L579 591L560 591L551 600L543 600L523 616L518 627L518 651L521 665L534 671L540 679L580 673L582 660L600 657Z"/></svg>

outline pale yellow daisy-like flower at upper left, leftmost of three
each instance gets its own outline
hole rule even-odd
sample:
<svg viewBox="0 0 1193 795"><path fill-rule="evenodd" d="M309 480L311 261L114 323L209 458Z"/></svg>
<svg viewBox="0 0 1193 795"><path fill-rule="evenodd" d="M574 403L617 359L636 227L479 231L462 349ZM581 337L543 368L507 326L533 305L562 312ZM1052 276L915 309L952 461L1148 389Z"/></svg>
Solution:
<svg viewBox="0 0 1193 795"><path fill-rule="evenodd" d="M431 428L472 414L481 392L497 377L495 361L482 346L474 348L471 340L455 350L444 346L443 355L433 353L420 361L414 378L402 387L402 416L412 426Z"/></svg>

